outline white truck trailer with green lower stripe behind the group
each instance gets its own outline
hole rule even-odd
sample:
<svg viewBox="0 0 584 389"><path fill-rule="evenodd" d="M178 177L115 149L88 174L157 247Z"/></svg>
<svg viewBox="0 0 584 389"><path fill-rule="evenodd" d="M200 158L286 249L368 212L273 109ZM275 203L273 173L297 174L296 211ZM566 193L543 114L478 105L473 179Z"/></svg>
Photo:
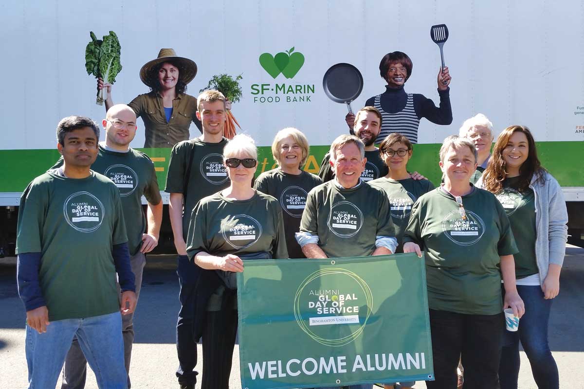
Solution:
<svg viewBox="0 0 584 389"><path fill-rule="evenodd" d="M511 124L527 125L543 165L564 190L570 241L582 246L584 14L578 0L561 6L544 0L3 3L0 246L12 254L20 194L57 160L57 122L72 114L98 122L105 116L95 103L96 80L85 69L89 31L100 37L113 30L120 40L123 69L113 86L116 103L148 92L138 72L163 47L196 62L199 70L187 91L194 96L213 75L241 74L244 95L232 112L260 146L259 174L274 165L269 146L281 128L296 127L308 136L312 147L305 169L311 172L318 171L332 140L347 132L345 104L333 103L322 89L322 77L333 64L348 62L363 74L363 92L353 102L358 109L384 91L378 71L383 55L404 51L413 61L406 92L422 93L437 104L440 53L430 40L430 26L440 23L450 31L444 57L453 78L454 120L446 126L420 122L410 168L436 184L440 143L477 113L489 117L495 135ZM262 54L290 48L304 58L293 72L274 76L260 60ZM141 120L138 125L131 146L140 149ZM199 134L194 125L190 132ZM143 150L164 190L171 149ZM168 218L164 223L158 251L172 252Z"/></svg>

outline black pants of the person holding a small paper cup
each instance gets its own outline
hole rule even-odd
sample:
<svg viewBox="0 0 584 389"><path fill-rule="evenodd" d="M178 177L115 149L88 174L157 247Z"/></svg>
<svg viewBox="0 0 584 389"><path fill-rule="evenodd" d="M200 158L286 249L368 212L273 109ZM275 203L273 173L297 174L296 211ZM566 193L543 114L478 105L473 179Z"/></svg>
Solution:
<svg viewBox="0 0 584 389"><path fill-rule="evenodd" d="M430 309L435 381L428 389L456 389L456 367L462 356L464 387L492 389L499 384L503 313L467 315Z"/></svg>

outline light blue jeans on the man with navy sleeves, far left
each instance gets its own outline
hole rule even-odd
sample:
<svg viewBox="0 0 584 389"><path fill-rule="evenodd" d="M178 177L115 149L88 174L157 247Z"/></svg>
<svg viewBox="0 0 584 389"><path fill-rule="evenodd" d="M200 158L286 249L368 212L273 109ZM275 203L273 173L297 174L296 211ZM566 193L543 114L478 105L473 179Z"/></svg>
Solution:
<svg viewBox="0 0 584 389"><path fill-rule="evenodd" d="M39 334L27 325L25 348L29 389L57 386L65 356L75 336L95 373L98 387L127 389L119 312L84 319L51 321L44 334Z"/></svg>

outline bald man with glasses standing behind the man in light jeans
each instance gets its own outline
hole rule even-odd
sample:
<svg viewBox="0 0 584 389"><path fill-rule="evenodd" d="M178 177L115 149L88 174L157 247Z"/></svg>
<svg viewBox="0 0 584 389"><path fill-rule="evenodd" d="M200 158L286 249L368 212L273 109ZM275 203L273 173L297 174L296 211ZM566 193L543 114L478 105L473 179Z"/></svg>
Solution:
<svg viewBox="0 0 584 389"><path fill-rule="evenodd" d="M130 264L136 279L138 298L146 263L144 254L158 245L162 223L162 198L154 164L147 155L130 148L130 142L137 131L134 111L126 104L116 104L107 111L102 125L106 129L106 140L99 143L98 157L92 164L92 169L110 178L120 191L131 255ZM59 163L55 166L58 165ZM148 202L147 225L142 211L142 195ZM146 227L147 231L144 232ZM133 314L123 317L122 334L126 370L129 374L134 342ZM65 360L61 389L82 389L85 387L85 378L85 356L75 339ZM130 386L128 376L128 388Z"/></svg>

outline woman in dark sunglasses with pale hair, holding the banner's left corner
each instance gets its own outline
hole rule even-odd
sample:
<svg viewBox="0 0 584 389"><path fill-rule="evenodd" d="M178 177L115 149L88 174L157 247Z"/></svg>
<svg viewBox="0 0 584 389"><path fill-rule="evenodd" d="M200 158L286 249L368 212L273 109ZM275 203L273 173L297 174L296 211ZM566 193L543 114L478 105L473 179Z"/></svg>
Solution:
<svg viewBox="0 0 584 389"><path fill-rule="evenodd" d="M199 269L194 327L203 337L201 389L228 389L237 334L237 281L244 259L288 258L282 211L272 196L252 188L255 142L236 135L225 145L231 184L193 209L187 254Z"/></svg>

